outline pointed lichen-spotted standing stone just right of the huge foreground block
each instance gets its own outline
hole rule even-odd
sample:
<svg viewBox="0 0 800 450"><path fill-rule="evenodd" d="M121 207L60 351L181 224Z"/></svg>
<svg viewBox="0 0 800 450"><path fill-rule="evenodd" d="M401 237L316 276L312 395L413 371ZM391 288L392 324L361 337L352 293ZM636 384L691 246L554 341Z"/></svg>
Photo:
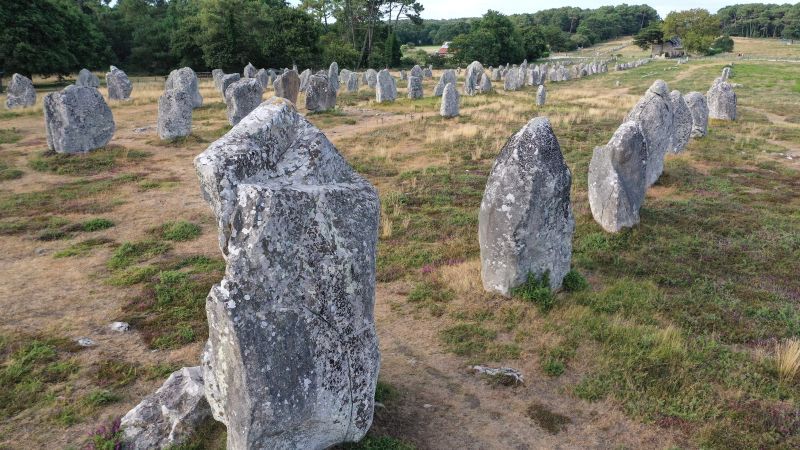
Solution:
<svg viewBox="0 0 800 450"><path fill-rule="evenodd" d="M510 295L528 274L559 289L570 270L572 175L547 118L531 119L494 162L478 216L481 277L487 291Z"/></svg>

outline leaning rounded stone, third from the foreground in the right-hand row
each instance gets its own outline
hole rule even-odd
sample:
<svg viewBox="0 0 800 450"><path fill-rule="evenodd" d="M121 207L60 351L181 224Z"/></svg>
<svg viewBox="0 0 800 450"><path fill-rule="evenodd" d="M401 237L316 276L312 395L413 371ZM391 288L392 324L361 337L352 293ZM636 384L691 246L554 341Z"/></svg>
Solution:
<svg viewBox="0 0 800 450"><path fill-rule="evenodd" d="M616 233L639 223L647 191L647 144L638 122L623 123L589 163L589 207L604 230Z"/></svg>

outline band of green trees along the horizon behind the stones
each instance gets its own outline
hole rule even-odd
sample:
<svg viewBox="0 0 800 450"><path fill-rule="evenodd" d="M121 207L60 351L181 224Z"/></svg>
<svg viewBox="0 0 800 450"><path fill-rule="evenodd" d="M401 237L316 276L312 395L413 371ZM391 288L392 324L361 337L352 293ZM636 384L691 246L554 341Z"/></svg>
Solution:
<svg viewBox="0 0 800 450"><path fill-rule="evenodd" d="M726 36L800 39L800 4L746 4L671 13L648 5L554 8L505 16L425 20L420 0L0 0L0 70L64 75L113 64L165 74L257 67L487 65L529 60L637 35L647 46L679 35L691 51ZM405 51L452 41L454 58ZM401 48L403 45L406 48ZM405 53L405 56L404 56Z"/></svg>

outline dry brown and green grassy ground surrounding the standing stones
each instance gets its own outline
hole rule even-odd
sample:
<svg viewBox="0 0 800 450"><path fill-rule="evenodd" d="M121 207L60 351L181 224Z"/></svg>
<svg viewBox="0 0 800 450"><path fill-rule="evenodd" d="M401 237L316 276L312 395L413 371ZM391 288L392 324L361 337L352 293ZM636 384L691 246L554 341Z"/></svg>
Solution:
<svg viewBox="0 0 800 450"><path fill-rule="evenodd" d="M639 226L603 232L586 192L592 149L654 80L704 93L732 61L739 120L712 121L667 158ZM135 80L133 100L112 105L114 139L87 155L46 152L41 94L0 112L0 448L83 448L198 364L224 263L192 159L230 127L204 80L193 135L159 141L161 88ZM800 447L799 356L786 345L800 338L800 66L656 61L548 91L542 108L532 88L462 97L461 117L444 120L438 99L379 105L363 87L309 116L383 208L382 406L347 448ZM580 276L554 296L504 299L481 288L478 209L494 158L534 116L550 119L572 170ZM110 331L115 320L132 331ZM472 364L513 367L525 384ZM184 448L224 442L209 423Z"/></svg>

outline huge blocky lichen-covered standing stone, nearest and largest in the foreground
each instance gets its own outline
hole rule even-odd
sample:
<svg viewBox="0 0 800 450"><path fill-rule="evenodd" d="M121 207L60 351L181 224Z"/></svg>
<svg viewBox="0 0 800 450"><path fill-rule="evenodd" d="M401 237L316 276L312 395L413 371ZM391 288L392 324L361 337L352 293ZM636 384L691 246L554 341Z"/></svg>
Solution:
<svg viewBox="0 0 800 450"><path fill-rule="evenodd" d="M323 449L372 423L376 189L288 101L195 158L225 277L206 300L206 398L227 448Z"/></svg>

